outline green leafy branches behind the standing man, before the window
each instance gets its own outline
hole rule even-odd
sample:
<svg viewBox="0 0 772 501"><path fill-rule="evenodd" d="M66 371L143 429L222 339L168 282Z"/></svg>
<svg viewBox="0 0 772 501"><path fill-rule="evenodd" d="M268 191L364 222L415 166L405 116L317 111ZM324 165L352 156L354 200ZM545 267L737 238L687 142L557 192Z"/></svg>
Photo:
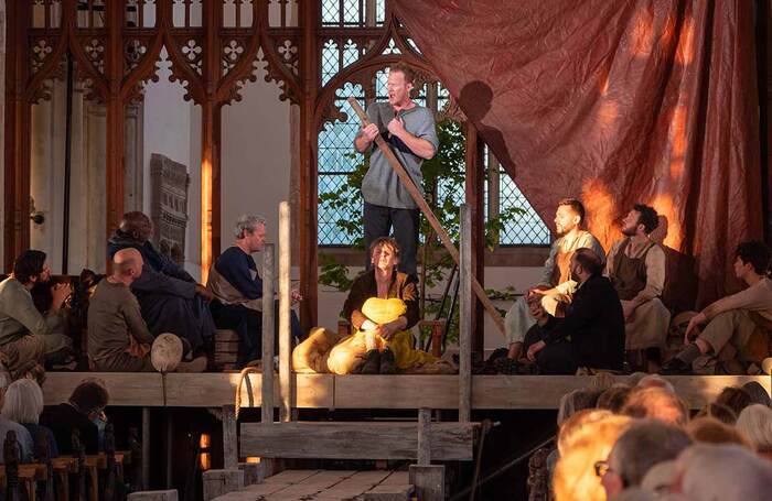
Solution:
<svg viewBox="0 0 772 501"><path fill-rule="evenodd" d="M459 240L459 207L464 200L464 181L465 181L465 140L463 129L460 123L452 120L444 120L437 126L437 135L440 148L433 159L425 161L421 165L423 174L423 187L426 198L432 211L439 219L442 228L448 232L451 240L458 246ZM354 247L364 249L362 238L362 179L369 167L369 154L360 156L358 153L350 153L351 159L361 159L353 172L346 176L343 183L336 190L321 194L319 196L320 204L326 204L329 207L336 209L340 214L349 214L350 218L341 218L336 221L337 227L347 236L354 239ZM487 173L486 173L487 174ZM495 218L487 219L485 222L485 244L490 250L493 250L496 241L496 236L504 229L504 224L514 220L517 216L525 214L525 210L518 207L507 207L501 210ZM444 251L441 242L433 232L431 226L421 218L420 241L423 242L426 249L419 249L419 260L422 255L427 257L427 262L423 263L421 271L426 287L431 288L438 284L444 284L449 276L450 270L453 268L453 261L448 252ZM321 255L320 258L321 272L319 283L330 285L340 291L351 288L353 277L349 275L346 266L339 264L333 258ZM452 293L452 291L451 291ZM491 294L491 292L489 292ZM496 291L492 294L495 298L508 298L513 291ZM425 303L423 316L426 318L433 317L440 306L440 301L432 297L427 297ZM446 311L450 306L450 299L446 302ZM455 322L452 324L458 326L458 308L455 309ZM449 337L454 338L454 329L451 330Z"/></svg>

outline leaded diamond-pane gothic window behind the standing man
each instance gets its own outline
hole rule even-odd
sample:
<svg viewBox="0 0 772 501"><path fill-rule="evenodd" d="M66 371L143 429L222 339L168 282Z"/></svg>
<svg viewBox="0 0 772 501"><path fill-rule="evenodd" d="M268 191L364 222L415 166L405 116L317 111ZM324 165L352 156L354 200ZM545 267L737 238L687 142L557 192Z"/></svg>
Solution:
<svg viewBox="0 0 772 501"><path fill-rule="evenodd" d="M372 37L373 29L383 26L386 19L385 0L321 0L321 85L328 85L347 66L364 56L377 39ZM329 36L324 35L330 33ZM369 35L371 37L367 37ZM380 35L377 35L379 37ZM408 45L418 52L412 41ZM384 55L399 54L400 50L392 39L383 50ZM361 81L362 78L357 79ZM326 121L318 138L319 165L319 244L324 247L349 247L362 237L362 228L342 228L339 221L356 221L362 210L358 189L347 186L347 177L362 162L362 155L354 151L354 138L358 131L358 119L351 110L346 98L355 97L365 107L372 99L386 99L386 70L376 72L372 79L366 79L368 88L361 83L346 81L336 89L334 107L341 116ZM432 87L429 87L432 86ZM430 90L430 91L429 91ZM427 106L435 112L442 110L449 101L447 89L439 83L423 84L416 102ZM536 214L514 181L498 166L496 160L487 154L484 162L489 167L489 182L485 186L485 213L492 218L510 207L523 211L514 220L504 225L498 235L500 246L546 246L550 233L542 218ZM440 183L438 189L442 192ZM447 189L447 188L444 188ZM337 193L337 198L355 199L352 204L330 200L328 195ZM463 192L458 193L459 204L463 202ZM353 214L354 213L354 214Z"/></svg>

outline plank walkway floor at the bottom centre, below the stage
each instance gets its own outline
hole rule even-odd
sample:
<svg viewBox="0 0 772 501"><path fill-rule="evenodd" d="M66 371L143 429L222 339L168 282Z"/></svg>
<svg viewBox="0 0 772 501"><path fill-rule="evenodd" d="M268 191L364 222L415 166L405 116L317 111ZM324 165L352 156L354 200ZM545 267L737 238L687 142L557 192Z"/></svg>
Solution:
<svg viewBox="0 0 772 501"><path fill-rule="evenodd" d="M407 471L287 470L215 501L356 500L376 486L407 483Z"/></svg>

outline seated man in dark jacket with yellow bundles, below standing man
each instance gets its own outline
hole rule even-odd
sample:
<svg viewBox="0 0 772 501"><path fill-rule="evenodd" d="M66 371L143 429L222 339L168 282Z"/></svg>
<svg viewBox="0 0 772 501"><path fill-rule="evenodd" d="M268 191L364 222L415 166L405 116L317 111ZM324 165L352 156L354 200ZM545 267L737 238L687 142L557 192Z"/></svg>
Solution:
<svg viewBox="0 0 772 501"><path fill-rule="evenodd" d="M399 247L390 238L371 244L373 268L352 284L343 316L354 334L340 336L317 329L292 353L298 372L392 374L423 368L451 372L452 366L414 348L409 329L418 323L415 276L397 271Z"/></svg>

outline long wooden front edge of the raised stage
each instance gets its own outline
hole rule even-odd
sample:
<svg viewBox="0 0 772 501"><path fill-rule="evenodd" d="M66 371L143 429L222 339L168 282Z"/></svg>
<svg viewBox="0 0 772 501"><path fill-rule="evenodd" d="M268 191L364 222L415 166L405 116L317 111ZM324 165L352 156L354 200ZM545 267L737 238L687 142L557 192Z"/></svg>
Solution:
<svg viewBox="0 0 772 501"><path fill-rule="evenodd" d="M50 372L43 384L45 403L66 402L85 378L103 380L110 393L110 406L222 407L235 401L238 373L117 373ZM472 409L557 409L560 396L586 388L592 377L583 375L474 375ZM619 377L620 382L625 377ZM758 381L768 391L769 375L679 375L667 378L691 409L703 406L723 386ZM260 374L251 374L254 406L260 405ZM278 377L274 402L278 405ZM458 409L458 375L333 375L292 374L298 409ZM249 406L246 385L242 405Z"/></svg>

